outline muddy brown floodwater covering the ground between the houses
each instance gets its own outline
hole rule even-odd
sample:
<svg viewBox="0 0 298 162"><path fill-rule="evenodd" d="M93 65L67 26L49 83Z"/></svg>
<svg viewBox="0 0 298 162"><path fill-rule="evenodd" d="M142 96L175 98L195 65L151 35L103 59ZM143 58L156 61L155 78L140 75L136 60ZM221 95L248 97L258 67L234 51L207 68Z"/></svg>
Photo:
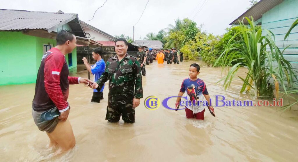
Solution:
<svg viewBox="0 0 298 162"><path fill-rule="evenodd" d="M35 126L31 104L35 84L0 86L0 161L298 161L298 111L281 113L277 107L215 107L205 120L186 119L185 111L159 107L148 110L147 96L159 99L177 95L188 77L191 63L146 65L144 99L136 108L136 123L111 124L105 120L108 86L104 100L91 103L92 89L70 85L69 120L76 146L62 157L46 147L46 133ZM199 62L202 65L202 62ZM241 69L239 75L244 76ZM84 66L70 73L87 77ZM221 68L201 67L199 78L208 92L227 99L256 101L240 94L240 79L224 91ZM175 99L169 101L174 105Z"/></svg>

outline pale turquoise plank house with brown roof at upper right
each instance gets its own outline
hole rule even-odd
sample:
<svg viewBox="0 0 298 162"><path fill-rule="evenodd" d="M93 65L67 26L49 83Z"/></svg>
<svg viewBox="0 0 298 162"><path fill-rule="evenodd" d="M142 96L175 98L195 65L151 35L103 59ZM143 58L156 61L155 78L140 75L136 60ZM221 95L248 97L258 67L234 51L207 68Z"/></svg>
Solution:
<svg viewBox="0 0 298 162"><path fill-rule="evenodd" d="M284 41L285 34L298 18L298 0L260 0L230 25L237 25L238 20L242 21L244 17L249 16L252 16L255 24L261 25L262 29L273 32L275 43L281 51L291 45L285 50L283 56L291 63L293 69L298 71L298 27L294 28L288 39ZM243 23L248 24L247 20L243 20ZM263 30L262 35L266 34Z"/></svg>

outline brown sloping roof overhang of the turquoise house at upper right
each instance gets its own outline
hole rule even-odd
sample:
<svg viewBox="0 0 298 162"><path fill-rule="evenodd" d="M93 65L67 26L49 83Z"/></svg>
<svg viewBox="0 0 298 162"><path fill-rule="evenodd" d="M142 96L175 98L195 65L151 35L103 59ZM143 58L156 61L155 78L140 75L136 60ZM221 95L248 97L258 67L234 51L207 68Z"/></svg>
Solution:
<svg viewBox="0 0 298 162"><path fill-rule="evenodd" d="M273 7L277 6L281 2L283 2L283 0L260 0L257 4L252 6L245 13L243 13L241 16L239 16L237 19L231 22L230 25L239 24L238 20L242 21L244 17L249 17L249 16L252 16L254 20L258 20L259 18L262 17L264 13L271 10ZM248 21L244 19L243 23L248 24Z"/></svg>

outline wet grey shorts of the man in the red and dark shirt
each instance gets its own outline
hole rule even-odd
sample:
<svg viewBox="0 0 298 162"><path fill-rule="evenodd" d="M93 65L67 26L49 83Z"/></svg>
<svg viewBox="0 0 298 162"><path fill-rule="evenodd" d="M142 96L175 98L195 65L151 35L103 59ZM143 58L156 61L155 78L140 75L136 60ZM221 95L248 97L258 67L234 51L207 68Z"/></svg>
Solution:
<svg viewBox="0 0 298 162"><path fill-rule="evenodd" d="M32 109L33 120L34 120L34 122L35 122L35 124L36 124L36 126L38 127L39 130L46 131L47 133L51 133L55 130L56 125L59 122L59 119L57 117L57 118L54 118L53 120L43 121L40 117L43 112L44 111L38 112L38 111L34 111Z"/></svg>

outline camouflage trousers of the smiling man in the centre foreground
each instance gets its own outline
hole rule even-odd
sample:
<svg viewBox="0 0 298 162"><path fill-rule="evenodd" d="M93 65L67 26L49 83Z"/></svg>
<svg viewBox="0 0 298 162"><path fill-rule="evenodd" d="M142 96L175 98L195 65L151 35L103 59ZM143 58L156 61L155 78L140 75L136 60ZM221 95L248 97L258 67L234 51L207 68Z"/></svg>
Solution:
<svg viewBox="0 0 298 162"><path fill-rule="evenodd" d="M136 114L132 103L133 100L131 100L131 102L127 102L126 104L119 104L108 100L105 120L108 120L111 123L115 123L118 122L120 120L120 116L122 116L122 120L125 123L134 123Z"/></svg>

